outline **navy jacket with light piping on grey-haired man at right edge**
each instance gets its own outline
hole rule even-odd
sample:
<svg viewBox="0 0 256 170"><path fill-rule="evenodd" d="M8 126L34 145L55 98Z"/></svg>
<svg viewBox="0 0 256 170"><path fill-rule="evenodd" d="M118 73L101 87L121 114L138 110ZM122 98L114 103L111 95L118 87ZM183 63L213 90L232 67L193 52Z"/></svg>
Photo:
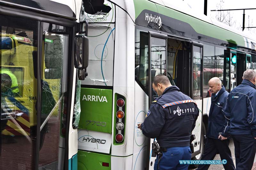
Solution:
<svg viewBox="0 0 256 170"><path fill-rule="evenodd" d="M224 107L226 122L224 133L256 137L256 89L249 80L234 88ZM224 135L223 135L224 136ZM226 137L226 136L225 136Z"/></svg>

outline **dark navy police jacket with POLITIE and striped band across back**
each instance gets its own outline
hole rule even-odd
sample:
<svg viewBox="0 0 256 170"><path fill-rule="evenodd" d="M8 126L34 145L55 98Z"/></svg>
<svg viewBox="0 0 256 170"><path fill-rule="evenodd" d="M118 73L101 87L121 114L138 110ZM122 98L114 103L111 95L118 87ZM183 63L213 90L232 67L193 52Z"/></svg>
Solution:
<svg viewBox="0 0 256 170"><path fill-rule="evenodd" d="M141 130L146 137L156 138L160 147L189 146L198 115L196 102L170 86L150 106Z"/></svg>

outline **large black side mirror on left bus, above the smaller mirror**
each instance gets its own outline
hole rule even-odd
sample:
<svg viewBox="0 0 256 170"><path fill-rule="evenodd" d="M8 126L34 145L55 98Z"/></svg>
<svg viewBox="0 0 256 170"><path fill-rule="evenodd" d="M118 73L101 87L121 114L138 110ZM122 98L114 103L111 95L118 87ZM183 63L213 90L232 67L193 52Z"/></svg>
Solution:
<svg viewBox="0 0 256 170"><path fill-rule="evenodd" d="M75 37L75 68L86 69L89 63L89 39L84 35Z"/></svg>

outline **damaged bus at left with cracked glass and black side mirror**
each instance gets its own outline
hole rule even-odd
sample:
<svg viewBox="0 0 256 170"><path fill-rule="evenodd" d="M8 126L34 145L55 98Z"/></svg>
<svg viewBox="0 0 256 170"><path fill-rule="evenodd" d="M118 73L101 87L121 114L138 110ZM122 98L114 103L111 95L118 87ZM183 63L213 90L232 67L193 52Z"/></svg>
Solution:
<svg viewBox="0 0 256 170"><path fill-rule="evenodd" d="M76 82L88 54L86 37L75 36L81 5L0 1L0 169L77 169Z"/></svg>

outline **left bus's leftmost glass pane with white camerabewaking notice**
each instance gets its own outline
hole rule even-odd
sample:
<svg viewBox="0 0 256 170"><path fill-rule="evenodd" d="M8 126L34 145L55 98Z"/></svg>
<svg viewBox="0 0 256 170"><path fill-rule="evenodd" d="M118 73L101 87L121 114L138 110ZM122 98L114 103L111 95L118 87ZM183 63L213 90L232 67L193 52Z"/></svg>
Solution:
<svg viewBox="0 0 256 170"><path fill-rule="evenodd" d="M33 169L37 80L29 63L37 50L37 22L3 15L0 20L0 169Z"/></svg>

